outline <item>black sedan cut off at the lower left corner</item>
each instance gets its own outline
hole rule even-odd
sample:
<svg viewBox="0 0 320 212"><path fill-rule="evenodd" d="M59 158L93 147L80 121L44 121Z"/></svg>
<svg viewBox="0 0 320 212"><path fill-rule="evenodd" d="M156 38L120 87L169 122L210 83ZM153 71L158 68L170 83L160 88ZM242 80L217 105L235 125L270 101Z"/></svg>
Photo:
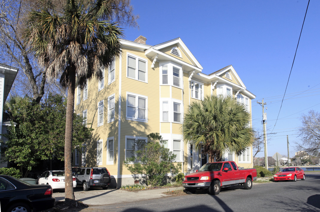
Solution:
<svg viewBox="0 0 320 212"><path fill-rule="evenodd" d="M0 211L41 211L52 208L54 203L50 185L31 185L15 177L0 175Z"/></svg>

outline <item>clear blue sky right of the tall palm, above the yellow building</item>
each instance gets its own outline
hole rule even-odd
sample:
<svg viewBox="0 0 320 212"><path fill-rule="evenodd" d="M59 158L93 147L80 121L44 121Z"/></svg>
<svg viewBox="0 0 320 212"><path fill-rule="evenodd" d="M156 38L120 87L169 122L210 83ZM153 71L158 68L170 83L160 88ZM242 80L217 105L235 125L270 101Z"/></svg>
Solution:
<svg viewBox="0 0 320 212"><path fill-rule="evenodd" d="M264 98L267 103L267 133L273 128L276 133L267 135L268 156L287 155L286 135L294 156L299 117L310 109L320 112L320 1L310 1L277 122L308 0L132 0L132 5L140 15L140 29L125 29L125 39L143 35L147 44L156 45L180 37L204 74L232 65L256 95L254 128L262 130L262 107L256 102Z"/></svg>

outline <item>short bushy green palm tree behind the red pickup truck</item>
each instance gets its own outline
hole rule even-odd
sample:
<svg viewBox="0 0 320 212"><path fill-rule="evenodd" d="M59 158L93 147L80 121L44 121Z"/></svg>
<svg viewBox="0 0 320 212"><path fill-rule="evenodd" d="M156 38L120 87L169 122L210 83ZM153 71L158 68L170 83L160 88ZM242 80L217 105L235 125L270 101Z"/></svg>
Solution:
<svg viewBox="0 0 320 212"><path fill-rule="evenodd" d="M245 106L231 96L207 96L190 104L182 124L186 143L209 154L209 162L222 160L225 151L237 155L252 145L253 130Z"/></svg>

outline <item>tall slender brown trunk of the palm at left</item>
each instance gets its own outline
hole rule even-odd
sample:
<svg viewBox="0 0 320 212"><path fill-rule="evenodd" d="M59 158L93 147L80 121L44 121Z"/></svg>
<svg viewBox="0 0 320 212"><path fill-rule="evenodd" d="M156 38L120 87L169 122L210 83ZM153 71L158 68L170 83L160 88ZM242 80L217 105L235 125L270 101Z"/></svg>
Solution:
<svg viewBox="0 0 320 212"><path fill-rule="evenodd" d="M72 184L71 157L72 157L72 132L73 132L73 111L75 107L76 88L76 67L71 65L68 70L68 97L66 114L66 134L64 144L64 170L65 170L65 201L75 200Z"/></svg>

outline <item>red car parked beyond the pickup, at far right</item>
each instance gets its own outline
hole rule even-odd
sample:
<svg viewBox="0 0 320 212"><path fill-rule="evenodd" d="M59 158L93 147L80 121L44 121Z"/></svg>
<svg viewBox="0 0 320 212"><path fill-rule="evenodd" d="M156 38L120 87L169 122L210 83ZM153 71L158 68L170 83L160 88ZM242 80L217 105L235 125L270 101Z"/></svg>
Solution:
<svg viewBox="0 0 320 212"><path fill-rule="evenodd" d="M275 182L278 182L278 180L292 180L295 182L297 179L305 180L306 176L304 171L299 167L288 167L281 169L273 176L273 178L275 179Z"/></svg>

